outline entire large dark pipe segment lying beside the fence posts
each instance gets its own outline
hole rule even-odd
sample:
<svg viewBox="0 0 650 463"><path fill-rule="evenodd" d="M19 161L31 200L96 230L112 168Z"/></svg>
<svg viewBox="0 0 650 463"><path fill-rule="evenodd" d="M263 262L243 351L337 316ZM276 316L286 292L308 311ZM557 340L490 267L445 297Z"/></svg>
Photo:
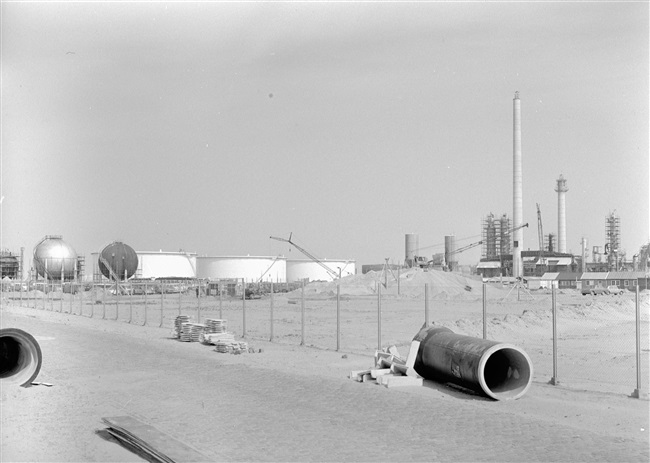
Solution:
<svg viewBox="0 0 650 463"><path fill-rule="evenodd" d="M533 364L512 344L436 326L420 330L414 341L420 341L414 368L425 379L457 384L495 400L518 399L530 387Z"/></svg>

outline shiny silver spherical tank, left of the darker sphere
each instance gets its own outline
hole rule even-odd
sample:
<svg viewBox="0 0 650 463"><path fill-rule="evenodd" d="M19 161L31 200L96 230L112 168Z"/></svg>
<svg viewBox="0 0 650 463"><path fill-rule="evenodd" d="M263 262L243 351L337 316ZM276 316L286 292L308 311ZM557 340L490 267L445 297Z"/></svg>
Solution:
<svg viewBox="0 0 650 463"><path fill-rule="evenodd" d="M74 280L77 253L60 236L46 236L34 248L34 268L51 280Z"/></svg>

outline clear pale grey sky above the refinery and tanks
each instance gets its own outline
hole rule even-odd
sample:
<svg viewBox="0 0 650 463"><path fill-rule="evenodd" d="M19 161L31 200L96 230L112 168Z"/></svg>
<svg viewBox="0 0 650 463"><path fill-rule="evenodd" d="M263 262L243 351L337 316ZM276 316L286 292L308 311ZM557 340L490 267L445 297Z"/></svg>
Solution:
<svg viewBox="0 0 650 463"><path fill-rule="evenodd" d="M61 235L361 265L513 215L650 239L647 2L7 2L0 248ZM481 246L458 255L476 264ZM28 265L29 262L26 262Z"/></svg>

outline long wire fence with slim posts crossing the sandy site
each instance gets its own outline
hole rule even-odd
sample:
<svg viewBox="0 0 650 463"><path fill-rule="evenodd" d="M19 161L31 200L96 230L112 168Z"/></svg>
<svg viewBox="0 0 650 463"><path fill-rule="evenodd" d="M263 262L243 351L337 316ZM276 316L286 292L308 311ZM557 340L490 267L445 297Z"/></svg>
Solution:
<svg viewBox="0 0 650 463"><path fill-rule="evenodd" d="M648 388L647 290L638 299L630 291L582 296L564 289L553 297L550 290L492 284L422 285L400 293L378 281L361 294L345 280L274 286L185 279L117 286L32 283L3 287L3 297L23 307L170 332L179 315L194 323L222 319L228 332L250 341L360 354L395 345L406 355L428 321L457 334L515 344L530 356L537 382L623 394Z"/></svg>

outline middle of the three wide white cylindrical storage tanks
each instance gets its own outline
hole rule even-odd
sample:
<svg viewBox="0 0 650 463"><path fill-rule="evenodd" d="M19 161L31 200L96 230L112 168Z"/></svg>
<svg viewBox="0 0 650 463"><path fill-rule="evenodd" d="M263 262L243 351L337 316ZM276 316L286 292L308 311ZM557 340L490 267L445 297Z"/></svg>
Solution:
<svg viewBox="0 0 650 463"><path fill-rule="evenodd" d="M219 280L243 278L247 283L287 281L287 258L269 256L200 256L196 258L196 276Z"/></svg>

